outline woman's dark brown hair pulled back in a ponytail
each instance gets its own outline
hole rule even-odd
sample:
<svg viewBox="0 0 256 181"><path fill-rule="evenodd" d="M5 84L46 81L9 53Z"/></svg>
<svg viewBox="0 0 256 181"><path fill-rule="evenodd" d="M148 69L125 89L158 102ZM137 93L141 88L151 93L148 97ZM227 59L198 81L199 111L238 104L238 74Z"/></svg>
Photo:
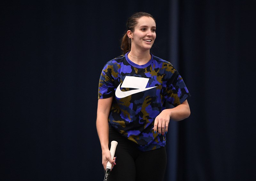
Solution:
<svg viewBox="0 0 256 181"><path fill-rule="evenodd" d="M127 31L130 30L131 32L133 32L135 26L138 23L138 19L140 19L143 16L153 18L153 16L147 12L136 12L130 18L127 19L127 22L126 22L127 30L123 35L122 43L121 43L121 50L123 50L124 54L127 53L128 51L131 51L131 40L129 39L129 37L127 35ZM153 18L153 20L156 22L156 20L154 18Z"/></svg>

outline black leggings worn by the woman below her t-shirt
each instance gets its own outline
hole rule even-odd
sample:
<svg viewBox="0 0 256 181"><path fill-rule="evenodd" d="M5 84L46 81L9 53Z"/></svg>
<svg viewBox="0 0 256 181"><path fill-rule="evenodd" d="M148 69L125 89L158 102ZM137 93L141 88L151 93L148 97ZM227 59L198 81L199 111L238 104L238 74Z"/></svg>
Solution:
<svg viewBox="0 0 256 181"><path fill-rule="evenodd" d="M109 174L108 181L162 181L166 168L165 147L142 152L136 144L121 136L109 126L109 147L117 141L116 165Z"/></svg>

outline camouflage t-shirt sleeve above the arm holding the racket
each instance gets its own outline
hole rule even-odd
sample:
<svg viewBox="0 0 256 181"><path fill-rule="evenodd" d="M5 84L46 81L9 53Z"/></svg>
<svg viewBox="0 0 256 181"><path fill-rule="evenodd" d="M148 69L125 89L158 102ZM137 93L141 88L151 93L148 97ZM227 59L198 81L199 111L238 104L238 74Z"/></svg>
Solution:
<svg viewBox="0 0 256 181"><path fill-rule="evenodd" d="M113 65L106 64L100 74L98 99L110 98L114 95Z"/></svg>

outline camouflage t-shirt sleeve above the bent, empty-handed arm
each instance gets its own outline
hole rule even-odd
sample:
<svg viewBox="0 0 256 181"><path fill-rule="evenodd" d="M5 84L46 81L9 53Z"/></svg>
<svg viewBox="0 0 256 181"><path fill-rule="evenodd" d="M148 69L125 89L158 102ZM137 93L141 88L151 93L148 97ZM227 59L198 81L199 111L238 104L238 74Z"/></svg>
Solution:
<svg viewBox="0 0 256 181"><path fill-rule="evenodd" d="M166 80L164 97L168 103L175 107L182 104L190 97L190 93L177 70Z"/></svg>

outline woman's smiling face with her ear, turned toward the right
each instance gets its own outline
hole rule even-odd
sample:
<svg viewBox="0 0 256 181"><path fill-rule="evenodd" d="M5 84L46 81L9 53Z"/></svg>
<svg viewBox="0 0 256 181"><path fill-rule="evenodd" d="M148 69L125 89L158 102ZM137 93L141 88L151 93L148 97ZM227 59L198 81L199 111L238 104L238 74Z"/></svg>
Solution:
<svg viewBox="0 0 256 181"><path fill-rule="evenodd" d="M132 49L149 50L156 39L156 23L153 18L143 16L138 19L134 31L127 33L130 38L132 37Z"/></svg>

